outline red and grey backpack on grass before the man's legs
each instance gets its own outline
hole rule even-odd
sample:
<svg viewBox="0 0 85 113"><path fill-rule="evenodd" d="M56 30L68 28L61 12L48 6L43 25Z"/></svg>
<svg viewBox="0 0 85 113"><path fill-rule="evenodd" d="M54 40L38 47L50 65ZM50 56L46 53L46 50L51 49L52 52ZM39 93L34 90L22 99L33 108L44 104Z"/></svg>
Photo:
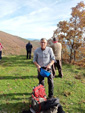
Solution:
<svg viewBox="0 0 85 113"><path fill-rule="evenodd" d="M39 84L33 88L31 97L31 108L39 113L41 111L41 102L46 101L46 93L43 85Z"/></svg>

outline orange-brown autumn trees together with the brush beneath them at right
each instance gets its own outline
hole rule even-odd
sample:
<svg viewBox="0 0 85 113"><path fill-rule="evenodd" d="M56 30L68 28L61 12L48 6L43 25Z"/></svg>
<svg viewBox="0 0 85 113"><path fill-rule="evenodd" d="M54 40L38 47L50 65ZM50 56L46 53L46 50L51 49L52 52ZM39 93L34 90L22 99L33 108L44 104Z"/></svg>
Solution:
<svg viewBox="0 0 85 113"><path fill-rule="evenodd" d="M60 21L53 33L62 43L62 58L70 63L85 60L85 4L72 7L69 21ZM52 37L52 38L53 38Z"/></svg>

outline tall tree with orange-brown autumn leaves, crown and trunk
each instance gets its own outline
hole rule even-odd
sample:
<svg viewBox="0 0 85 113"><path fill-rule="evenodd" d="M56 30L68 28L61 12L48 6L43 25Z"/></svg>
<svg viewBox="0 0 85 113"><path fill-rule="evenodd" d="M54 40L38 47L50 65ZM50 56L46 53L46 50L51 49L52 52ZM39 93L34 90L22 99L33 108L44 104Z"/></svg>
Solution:
<svg viewBox="0 0 85 113"><path fill-rule="evenodd" d="M70 50L69 57L70 62L72 59L76 60L76 54L79 47L84 41L85 30L85 4L80 2L76 7L72 8L71 18L69 22L60 21L57 24L53 36L57 36L59 40L67 44Z"/></svg>

